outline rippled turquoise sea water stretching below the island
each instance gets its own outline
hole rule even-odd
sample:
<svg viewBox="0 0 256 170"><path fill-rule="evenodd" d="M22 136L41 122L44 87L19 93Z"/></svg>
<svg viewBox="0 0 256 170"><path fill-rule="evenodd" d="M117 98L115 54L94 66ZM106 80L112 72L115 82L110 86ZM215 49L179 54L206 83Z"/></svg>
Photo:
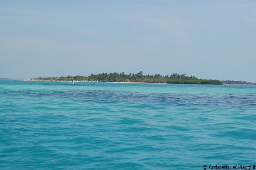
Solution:
<svg viewBox="0 0 256 170"><path fill-rule="evenodd" d="M204 165L256 165L256 85L0 81L1 170Z"/></svg>

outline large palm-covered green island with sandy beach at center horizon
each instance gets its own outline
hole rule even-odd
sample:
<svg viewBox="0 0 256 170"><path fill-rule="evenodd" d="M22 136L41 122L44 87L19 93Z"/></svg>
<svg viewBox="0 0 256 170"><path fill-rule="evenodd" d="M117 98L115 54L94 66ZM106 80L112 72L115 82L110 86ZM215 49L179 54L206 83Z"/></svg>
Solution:
<svg viewBox="0 0 256 170"><path fill-rule="evenodd" d="M206 80L198 79L195 76L188 76L187 74L173 73L171 75L144 75L142 71L137 74L125 74L122 73L102 73L102 74L91 74L89 76L61 76L61 77L38 77L33 80L75 80L75 81L99 81L99 82L144 82L144 83L170 83L170 84L214 84L222 85L223 82L220 80Z"/></svg>

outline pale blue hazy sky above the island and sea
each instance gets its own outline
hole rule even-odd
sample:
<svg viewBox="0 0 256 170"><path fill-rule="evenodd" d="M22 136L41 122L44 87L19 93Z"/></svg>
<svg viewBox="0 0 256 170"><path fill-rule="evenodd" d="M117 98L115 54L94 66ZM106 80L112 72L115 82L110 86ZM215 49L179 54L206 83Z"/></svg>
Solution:
<svg viewBox="0 0 256 170"><path fill-rule="evenodd" d="M139 71L256 82L256 1L0 1L0 78Z"/></svg>

